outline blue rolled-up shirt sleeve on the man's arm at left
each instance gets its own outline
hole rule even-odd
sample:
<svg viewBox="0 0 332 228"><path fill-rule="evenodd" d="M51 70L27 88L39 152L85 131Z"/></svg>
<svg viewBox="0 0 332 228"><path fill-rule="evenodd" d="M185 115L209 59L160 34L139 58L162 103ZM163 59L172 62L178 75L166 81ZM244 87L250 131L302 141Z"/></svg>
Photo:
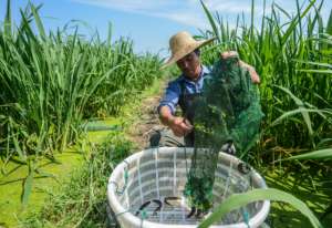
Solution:
<svg viewBox="0 0 332 228"><path fill-rule="evenodd" d="M162 106L168 106L172 113L174 114L175 107L178 104L179 95L180 95L179 83L177 81L169 82L166 92L164 94L164 97L159 103L158 113L160 112Z"/></svg>

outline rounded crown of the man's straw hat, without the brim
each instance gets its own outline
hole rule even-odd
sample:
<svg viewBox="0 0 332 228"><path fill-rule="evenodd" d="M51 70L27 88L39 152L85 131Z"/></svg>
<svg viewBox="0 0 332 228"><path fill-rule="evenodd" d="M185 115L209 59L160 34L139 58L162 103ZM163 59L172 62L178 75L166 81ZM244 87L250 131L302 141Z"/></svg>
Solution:
<svg viewBox="0 0 332 228"><path fill-rule="evenodd" d="M183 49L186 49L187 46L193 45L197 41L190 35L190 33L183 31L178 32L175 35L173 35L169 40L169 48L172 51L172 54L181 51Z"/></svg>

